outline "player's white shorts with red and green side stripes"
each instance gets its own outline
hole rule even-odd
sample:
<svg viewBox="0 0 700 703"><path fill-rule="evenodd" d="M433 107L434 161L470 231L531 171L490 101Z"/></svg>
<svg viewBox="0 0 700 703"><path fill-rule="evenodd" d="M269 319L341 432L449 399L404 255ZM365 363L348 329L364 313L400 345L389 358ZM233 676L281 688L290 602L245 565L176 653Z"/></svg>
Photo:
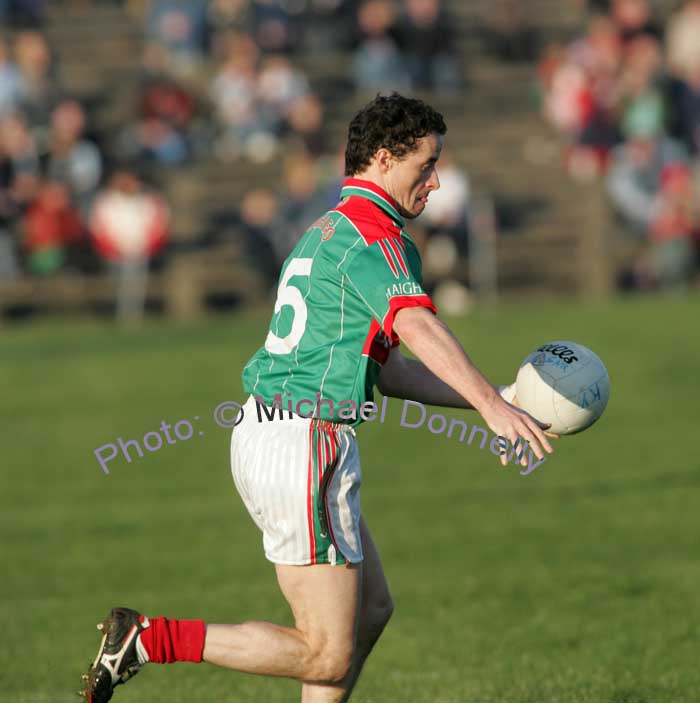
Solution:
<svg viewBox="0 0 700 703"><path fill-rule="evenodd" d="M352 427L290 419L286 411L268 420L253 396L243 413L231 436L231 472L262 530L265 556L275 564L362 561L362 474Z"/></svg>

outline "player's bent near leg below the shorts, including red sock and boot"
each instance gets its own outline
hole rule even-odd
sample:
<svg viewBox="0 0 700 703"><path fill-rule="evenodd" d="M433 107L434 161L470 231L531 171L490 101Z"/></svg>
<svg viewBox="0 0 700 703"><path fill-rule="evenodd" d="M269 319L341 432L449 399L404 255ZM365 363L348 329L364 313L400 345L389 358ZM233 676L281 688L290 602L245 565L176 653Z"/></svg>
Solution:
<svg viewBox="0 0 700 703"><path fill-rule="evenodd" d="M106 703L114 688L147 663L201 662L236 671L333 683L352 663L359 611L360 564L277 565L280 588L295 626L269 622L209 625L202 620L147 618L115 608L101 624L104 637L84 676L82 695ZM327 689L314 700L334 703L343 691Z"/></svg>

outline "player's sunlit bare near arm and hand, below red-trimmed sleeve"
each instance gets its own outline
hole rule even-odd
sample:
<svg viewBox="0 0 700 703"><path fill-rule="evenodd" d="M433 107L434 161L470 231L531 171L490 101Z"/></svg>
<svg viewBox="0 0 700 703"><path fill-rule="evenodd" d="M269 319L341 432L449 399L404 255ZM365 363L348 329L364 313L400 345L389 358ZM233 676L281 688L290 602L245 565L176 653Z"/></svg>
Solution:
<svg viewBox="0 0 700 703"><path fill-rule="evenodd" d="M515 444L519 437L530 442L538 459L552 447L544 433L546 424L507 403L476 368L447 325L422 307L401 308L394 316L394 331L425 366L475 408L493 432ZM506 464L501 455L501 463Z"/></svg>

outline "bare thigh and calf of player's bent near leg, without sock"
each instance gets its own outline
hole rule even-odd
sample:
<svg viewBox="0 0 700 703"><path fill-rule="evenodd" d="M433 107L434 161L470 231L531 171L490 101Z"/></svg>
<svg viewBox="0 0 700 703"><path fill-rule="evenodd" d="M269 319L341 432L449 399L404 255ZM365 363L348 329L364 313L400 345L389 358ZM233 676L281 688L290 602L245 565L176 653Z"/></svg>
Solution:
<svg viewBox="0 0 700 703"><path fill-rule="evenodd" d="M343 679L352 661L361 565L278 564L276 570L294 627L266 622L209 625L204 661L304 681Z"/></svg>

